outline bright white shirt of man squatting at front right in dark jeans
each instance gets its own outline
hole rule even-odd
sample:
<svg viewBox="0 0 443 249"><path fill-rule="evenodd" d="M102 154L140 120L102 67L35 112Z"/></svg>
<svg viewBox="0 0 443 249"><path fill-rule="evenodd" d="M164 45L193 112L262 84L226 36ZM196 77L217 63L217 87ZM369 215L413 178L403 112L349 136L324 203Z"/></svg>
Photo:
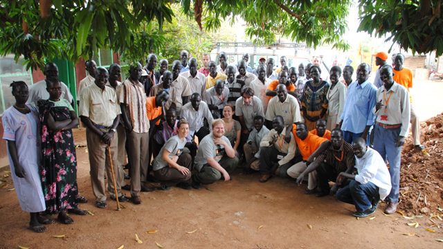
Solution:
<svg viewBox="0 0 443 249"><path fill-rule="evenodd" d="M391 189L388 167L379 152L370 147L367 148L368 150L362 158L355 157L355 167L359 172L355 176L355 181L361 184L374 183L379 187L380 199L384 200Z"/></svg>

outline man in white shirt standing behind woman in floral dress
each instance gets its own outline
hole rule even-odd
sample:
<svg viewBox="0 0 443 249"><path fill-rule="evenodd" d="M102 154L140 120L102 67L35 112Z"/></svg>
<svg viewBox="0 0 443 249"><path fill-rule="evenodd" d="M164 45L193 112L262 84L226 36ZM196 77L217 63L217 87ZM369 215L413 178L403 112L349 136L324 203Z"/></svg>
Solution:
<svg viewBox="0 0 443 249"><path fill-rule="evenodd" d="M60 82L58 79L58 67L53 62L49 62L44 66L44 75L46 76L46 80L51 80L51 82ZM39 81L32 86L29 86L29 98L26 103L34 103L37 106L37 102L39 100L48 100L49 93L46 90L46 80ZM63 82L62 84L62 95L60 95L60 99L68 100L69 103L74 107L74 99L69 91L68 86Z"/></svg>

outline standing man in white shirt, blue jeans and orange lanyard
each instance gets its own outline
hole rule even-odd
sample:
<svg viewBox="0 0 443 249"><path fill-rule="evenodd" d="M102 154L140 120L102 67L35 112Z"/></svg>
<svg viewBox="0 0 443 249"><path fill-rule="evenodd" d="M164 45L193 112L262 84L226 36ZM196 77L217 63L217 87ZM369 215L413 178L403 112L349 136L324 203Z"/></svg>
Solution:
<svg viewBox="0 0 443 249"><path fill-rule="evenodd" d="M386 214L395 213L399 202L401 147L408 136L410 121L409 92L392 79L394 73L388 64L381 66L380 78L383 86L377 90L377 104L372 112L376 116L374 125L374 149L381 158L389 159L392 190L386 198Z"/></svg>

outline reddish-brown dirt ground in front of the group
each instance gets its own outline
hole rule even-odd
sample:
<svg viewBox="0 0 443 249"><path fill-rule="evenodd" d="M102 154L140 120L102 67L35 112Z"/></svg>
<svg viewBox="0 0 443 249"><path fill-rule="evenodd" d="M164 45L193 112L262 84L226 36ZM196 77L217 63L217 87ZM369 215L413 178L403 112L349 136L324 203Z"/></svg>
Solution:
<svg viewBox="0 0 443 249"><path fill-rule="evenodd" d="M86 145L84 129L75 129L74 133L76 144ZM436 158L440 152L430 150L429 154ZM441 176L437 181L437 168L426 179L422 174L414 175L420 172L419 167L426 169L420 163L409 168L417 168L410 174L417 178L414 183L418 185L410 186L409 191L413 196L422 186L422 196L426 194L430 203L428 212L419 214L401 205L405 216L419 215L413 219L399 213L386 216L383 215L386 204L381 203L374 215L356 219L352 216L352 205L330 196L316 198L303 194L306 184L298 187L293 180L278 177L259 183L259 174L244 175L239 169L228 183L219 181L201 190L172 187L169 191L141 193L141 205L123 203L125 209L120 212L116 211L116 202L108 199L108 207L99 209L94 205L86 149L77 149L77 155L79 189L89 199L80 208L95 215L71 215L75 220L72 225L55 222L47 226L48 232L31 232L26 229L28 214L19 208L15 192L9 191L14 186L2 183L0 248L326 248L337 244L356 248L439 248L443 245L437 241L443 239L443 221L438 219L443 219L443 212L437 210L439 205L443 207L442 199L437 199L437 191L441 192L443 187ZM419 158L428 165L430 159L421 155ZM435 167L437 161L440 160L434 161ZM407 166L402 170L406 169ZM441 168L438 170L441 173ZM1 172L1 179L10 183L11 178L4 177L7 174L10 172ZM410 178L409 174L402 174L402 180ZM401 187L406 187L404 181ZM123 192L129 196L129 192ZM415 222L419 224L417 228L415 224L408 225ZM148 234L148 230L158 232ZM62 234L66 237L53 237ZM136 242L136 234L143 244Z"/></svg>

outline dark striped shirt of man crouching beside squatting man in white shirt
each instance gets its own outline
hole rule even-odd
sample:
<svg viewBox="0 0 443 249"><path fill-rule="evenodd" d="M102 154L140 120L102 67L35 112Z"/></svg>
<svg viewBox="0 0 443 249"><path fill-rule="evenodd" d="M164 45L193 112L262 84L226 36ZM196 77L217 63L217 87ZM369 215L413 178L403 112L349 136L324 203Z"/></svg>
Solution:
<svg viewBox="0 0 443 249"><path fill-rule="evenodd" d="M333 167L335 172L345 172L349 167L355 166L355 156L352 151L352 145L344 140L338 151L334 149L334 146L329 145L325 151L317 156L316 160L320 162L324 161Z"/></svg>

